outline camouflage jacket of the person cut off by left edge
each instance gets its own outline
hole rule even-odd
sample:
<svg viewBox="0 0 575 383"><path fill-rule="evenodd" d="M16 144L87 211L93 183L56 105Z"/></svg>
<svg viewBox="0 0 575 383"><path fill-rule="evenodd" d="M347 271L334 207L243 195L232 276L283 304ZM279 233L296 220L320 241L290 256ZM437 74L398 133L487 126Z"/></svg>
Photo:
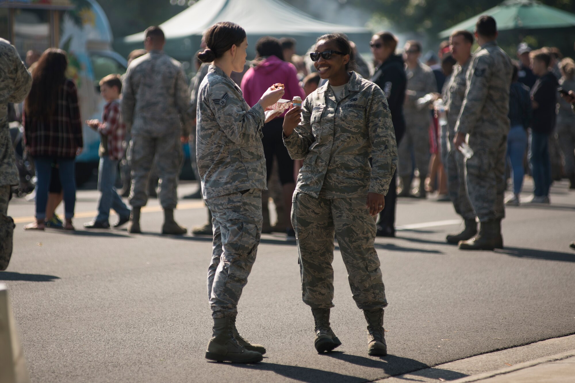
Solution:
<svg viewBox="0 0 575 383"><path fill-rule="evenodd" d="M18 169L8 127L8 103L21 102L32 87L32 76L16 48L0 39L0 186L18 185Z"/></svg>

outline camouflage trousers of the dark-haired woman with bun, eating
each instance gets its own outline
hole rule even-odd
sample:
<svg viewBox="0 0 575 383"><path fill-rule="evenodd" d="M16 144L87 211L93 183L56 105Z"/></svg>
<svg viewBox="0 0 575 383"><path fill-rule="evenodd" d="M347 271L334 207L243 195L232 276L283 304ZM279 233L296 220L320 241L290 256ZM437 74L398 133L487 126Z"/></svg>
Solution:
<svg viewBox="0 0 575 383"><path fill-rule="evenodd" d="M236 191L206 200L212 212L213 250L208 268L212 317L237 315L262 233L262 190Z"/></svg>

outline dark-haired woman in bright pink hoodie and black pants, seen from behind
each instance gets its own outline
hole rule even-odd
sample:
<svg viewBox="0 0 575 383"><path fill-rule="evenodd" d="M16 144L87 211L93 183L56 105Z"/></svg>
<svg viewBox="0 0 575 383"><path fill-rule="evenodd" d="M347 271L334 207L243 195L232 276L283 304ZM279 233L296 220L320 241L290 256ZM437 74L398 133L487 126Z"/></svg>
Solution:
<svg viewBox="0 0 575 383"><path fill-rule="evenodd" d="M304 90L297 79L296 67L283 61L283 51L279 40L274 37L262 37L255 45L258 54L254 66L248 69L241 80L241 91L250 106L254 106L263 91L275 83L285 85L284 99L299 96L305 98ZM285 228L288 238L295 238L290 215L292 210L292 194L296 188L294 182L293 160L287 153L282 141L282 125L285 113L274 118L263 126L263 151L266 156L267 180L270 180L274 156L278 160L279 181L282 184Z"/></svg>

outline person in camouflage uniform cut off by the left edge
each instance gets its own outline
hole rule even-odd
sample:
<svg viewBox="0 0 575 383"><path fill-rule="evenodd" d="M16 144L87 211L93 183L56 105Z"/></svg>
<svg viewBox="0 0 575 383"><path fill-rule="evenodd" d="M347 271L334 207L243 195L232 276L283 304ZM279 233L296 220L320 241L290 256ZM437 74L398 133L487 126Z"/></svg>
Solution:
<svg viewBox="0 0 575 383"><path fill-rule="evenodd" d="M14 221L8 217L11 186L18 185L18 169L8 127L8 103L21 102L32 87L32 76L16 48L0 39L0 270L12 255Z"/></svg>

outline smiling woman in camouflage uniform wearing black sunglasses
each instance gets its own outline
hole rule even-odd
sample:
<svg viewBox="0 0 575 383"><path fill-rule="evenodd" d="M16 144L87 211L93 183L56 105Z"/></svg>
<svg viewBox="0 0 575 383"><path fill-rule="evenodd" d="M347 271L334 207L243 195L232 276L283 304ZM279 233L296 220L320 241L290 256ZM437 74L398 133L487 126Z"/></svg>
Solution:
<svg viewBox="0 0 575 383"><path fill-rule="evenodd" d="M396 169L397 144L385 93L350 71L350 43L321 36L310 53L325 85L283 121L283 141L303 159L292 224L300 255L302 296L315 320L315 348L341 342L329 324L333 307L333 236L338 239L353 298L367 320L368 353L386 355L384 282L375 251L375 217ZM371 166L370 166L371 158Z"/></svg>

